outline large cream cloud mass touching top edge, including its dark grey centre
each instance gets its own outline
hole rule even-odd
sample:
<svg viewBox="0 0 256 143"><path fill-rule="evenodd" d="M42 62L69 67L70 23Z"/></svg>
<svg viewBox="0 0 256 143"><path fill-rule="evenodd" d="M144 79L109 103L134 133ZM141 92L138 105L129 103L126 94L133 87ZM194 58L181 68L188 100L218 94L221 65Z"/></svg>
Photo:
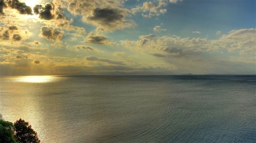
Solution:
<svg viewBox="0 0 256 143"><path fill-rule="evenodd" d="M83 16L82 20L86 23L96 25L97 32L113 32L136 26L135 21L126 19L126 17L131 16L131 11L123 8L125 1L63 0L62 2L67 4L69 12ZM61 4L57 1L55 3Z"/></svg>

